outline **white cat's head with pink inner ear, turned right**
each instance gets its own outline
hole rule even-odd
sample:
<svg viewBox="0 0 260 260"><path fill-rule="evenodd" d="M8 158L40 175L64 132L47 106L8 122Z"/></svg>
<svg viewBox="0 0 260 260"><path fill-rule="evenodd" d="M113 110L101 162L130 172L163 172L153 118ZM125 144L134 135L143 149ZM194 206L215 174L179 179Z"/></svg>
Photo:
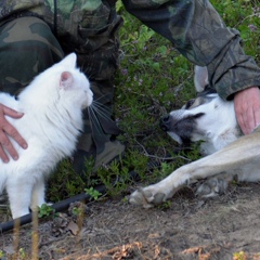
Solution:
<svg viewBox="0 0 260 260"><path fill-rule="evenodd" d="M72 53L48 68L21 93L21 100L42 109L50 107L90 106L93 93L88 78L77 68L77 56Z"/></svg>

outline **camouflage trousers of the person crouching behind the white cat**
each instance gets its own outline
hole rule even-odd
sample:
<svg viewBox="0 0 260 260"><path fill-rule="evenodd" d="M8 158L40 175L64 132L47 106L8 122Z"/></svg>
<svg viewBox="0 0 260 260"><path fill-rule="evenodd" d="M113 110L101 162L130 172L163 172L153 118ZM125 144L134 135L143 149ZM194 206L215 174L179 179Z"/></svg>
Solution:
<svg viewBox="0 0 260 260"><path fill-rule="evenodd" d="M76 48L63 44L40 18L20 17L1 24L0 91L18 94L35 76L73 51L77 53ZM95 109L91 109L91 118L88 110L83 113L84 129L74 156L76 171L82 168L82 156L92 155L98 167L125 150L119 142L110 141L112 135L119 133L110 119L117 53L116 41L91 53L77 53L78 66L91 82Z"/></svg>

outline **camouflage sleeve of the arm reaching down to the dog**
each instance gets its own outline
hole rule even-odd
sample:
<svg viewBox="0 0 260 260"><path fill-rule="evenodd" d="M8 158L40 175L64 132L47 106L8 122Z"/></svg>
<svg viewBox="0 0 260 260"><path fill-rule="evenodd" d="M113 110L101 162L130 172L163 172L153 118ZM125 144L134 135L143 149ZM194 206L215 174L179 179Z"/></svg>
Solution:
<svg viewBox="0 0 260 260"><path fill-rule="evenodd" d="M245 55L239 32L227 28L208 0L122 0L128 12L170 40L192 63L207 66L223 99L260 86L260 68Z"/></svg>

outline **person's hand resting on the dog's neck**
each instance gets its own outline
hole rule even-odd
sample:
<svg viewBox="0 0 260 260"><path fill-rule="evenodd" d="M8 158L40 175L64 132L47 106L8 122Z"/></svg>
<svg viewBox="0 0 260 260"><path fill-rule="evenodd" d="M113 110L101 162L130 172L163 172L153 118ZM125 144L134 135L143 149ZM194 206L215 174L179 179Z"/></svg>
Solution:
<svg viewBox="0 0 260 260"><path fill-rule="evenodd" d="M260 123L260 90L251 87L242 90L234 98L235 114L245 134L250 133Z"/></svg>

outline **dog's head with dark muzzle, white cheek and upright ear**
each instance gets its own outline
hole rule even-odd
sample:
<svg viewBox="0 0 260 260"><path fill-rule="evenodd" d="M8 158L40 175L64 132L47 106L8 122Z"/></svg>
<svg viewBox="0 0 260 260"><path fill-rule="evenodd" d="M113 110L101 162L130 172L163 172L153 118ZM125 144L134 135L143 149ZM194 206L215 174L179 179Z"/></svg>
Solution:
<svg viewBox="0 0 260 260"><path fill-rule="evenodd" d="M197 98L190 100L181 109L164 116L160 120L161 129L179 144L214 142L226 132L236 132L233 102L223 101L216 91L213 93L208 88L206 67L195 67L194 83Z"/></svg>

